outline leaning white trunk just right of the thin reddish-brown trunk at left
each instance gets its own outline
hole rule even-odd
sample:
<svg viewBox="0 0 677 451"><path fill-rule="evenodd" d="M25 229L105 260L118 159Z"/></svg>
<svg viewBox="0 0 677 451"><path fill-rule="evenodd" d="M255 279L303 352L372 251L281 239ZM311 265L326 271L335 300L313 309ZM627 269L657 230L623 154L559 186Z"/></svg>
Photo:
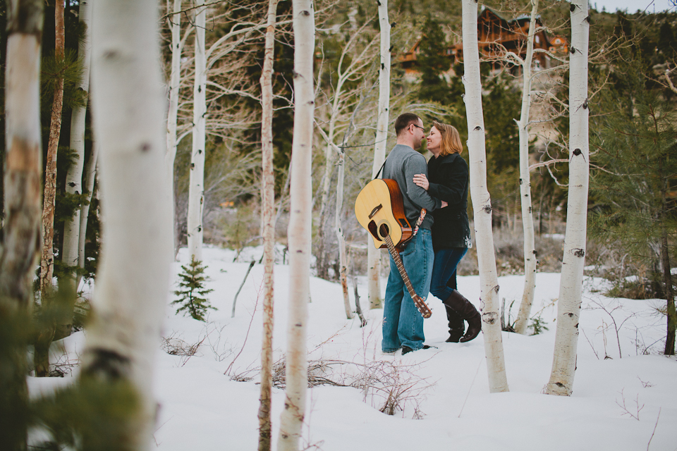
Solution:
<svg viewBox="0 0 677 451"><path fill-rule="evenodd" d="M78 58L83 62L83 78L80 80L78 89L82 89L87 97L90 91L90 19L92 8L90 1L80 1L80 23L85 25L85 37L78 44ZM77 158L68 167L66 173L66 192L69 194L83 193L83 169L85 168L85 115L87 106L75 106L71 113L71 149L75 151ZM78 249L80 249L80 213L82 209L76 209L73 217L63 225L63 256L61 261L68 266L78 266ZM73 285L80 280L73 277ZM76 290L77 285L73 286Z"/></svg>

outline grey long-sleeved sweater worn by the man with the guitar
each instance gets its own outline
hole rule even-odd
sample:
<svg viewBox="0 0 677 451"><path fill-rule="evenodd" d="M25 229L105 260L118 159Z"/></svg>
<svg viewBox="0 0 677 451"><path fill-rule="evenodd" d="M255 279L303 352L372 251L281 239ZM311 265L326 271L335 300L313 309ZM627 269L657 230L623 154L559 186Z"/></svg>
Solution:
<svg viewBox="0 0 677 451"><path fill-rule="evenodd" d="M396 180L402 192L404 214L411 228L415 228L421 209L428 212L441 207L441 201L430 197L426 190L414 183L415 174L428 175L424 156L404 144L396 144L383 167L383 178ZM432 214L426 214L421 228L432 228Z"/></svg>

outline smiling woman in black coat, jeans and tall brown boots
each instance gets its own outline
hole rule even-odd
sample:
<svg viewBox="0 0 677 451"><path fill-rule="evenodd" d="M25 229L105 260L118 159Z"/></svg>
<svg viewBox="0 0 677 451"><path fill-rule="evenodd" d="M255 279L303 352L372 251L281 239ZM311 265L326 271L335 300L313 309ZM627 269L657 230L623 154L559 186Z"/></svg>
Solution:
<svg viewBox="0 0 677 451"><path fill-rule="evenodd" d="M461 156L463 144L458 130L451 125L433 122L426 138L432 152L428 161L428 177L414 175L414 183L428 194L449 203L444 209L432 212L432 247L435 261L432 267L430 292L442 299L449 320L447 342L467 342L482 330L480 312L456 290L456 266L461 261L470 240L468 224L468 163ZM465 323L468 321L468 331Z"/></svg>

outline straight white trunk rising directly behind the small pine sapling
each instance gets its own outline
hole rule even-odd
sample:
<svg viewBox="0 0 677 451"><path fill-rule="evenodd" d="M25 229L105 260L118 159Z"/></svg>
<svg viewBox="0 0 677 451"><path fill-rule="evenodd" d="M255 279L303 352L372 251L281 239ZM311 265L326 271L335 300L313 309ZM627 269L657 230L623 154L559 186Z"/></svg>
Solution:
<svg viewBox="0 0 677 451"><path fill-rule="evenodd" d="M195 6L205 4L195 0ZM195 10L195 88L193 89L193 153L188 187L188 253L202 260L202 208L205 204L205 122L207 114L206 8Z"/></svg>

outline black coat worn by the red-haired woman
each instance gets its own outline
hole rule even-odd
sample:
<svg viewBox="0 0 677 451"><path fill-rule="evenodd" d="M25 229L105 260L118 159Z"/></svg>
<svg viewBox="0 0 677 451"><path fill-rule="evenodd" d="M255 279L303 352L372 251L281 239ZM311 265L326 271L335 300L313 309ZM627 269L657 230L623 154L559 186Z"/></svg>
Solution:
<svg viewBox="0 0 677 451"><path fill-rule="evenodd" d="M428 194L449 203L432 212L432 245L472 247L468 223L468 163L459 154L432 156L428 161Z"/></svg>

